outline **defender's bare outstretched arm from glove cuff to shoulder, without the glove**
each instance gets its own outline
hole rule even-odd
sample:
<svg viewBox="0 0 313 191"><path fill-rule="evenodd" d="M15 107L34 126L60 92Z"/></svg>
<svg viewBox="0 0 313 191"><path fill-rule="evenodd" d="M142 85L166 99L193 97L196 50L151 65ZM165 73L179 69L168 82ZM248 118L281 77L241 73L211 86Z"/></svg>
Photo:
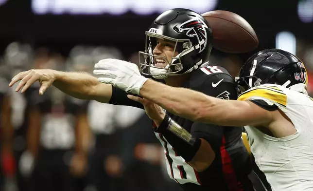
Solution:
<svg viewBox="0 0 313 191"><path fill-rule="evenodd" d="M221 126L268 124L272 113L250 101L224 100L185 88L175 88L148 79L140 88L147 98L168 112L192 121Z"/></svg>

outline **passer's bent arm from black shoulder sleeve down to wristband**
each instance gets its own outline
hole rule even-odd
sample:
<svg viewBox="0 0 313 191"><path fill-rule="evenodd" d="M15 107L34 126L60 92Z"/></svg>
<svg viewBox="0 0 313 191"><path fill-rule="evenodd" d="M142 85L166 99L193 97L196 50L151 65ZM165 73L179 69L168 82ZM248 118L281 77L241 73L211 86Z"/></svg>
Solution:
<svg viewBox="0 0 313 191"><path fill-rule="evenodd" d="M220 82L218 86L214 87L212 86L212 81ZM237 91L233 79L224 74L208 78L200 91L221 99L237 99ZM224 127L195 122L189 133L166 115L157 131L168 140L175 151L186 162L189 162L194 169L201 172L206 170L214 160L215 152L219 150L222 143Z"/></svg>

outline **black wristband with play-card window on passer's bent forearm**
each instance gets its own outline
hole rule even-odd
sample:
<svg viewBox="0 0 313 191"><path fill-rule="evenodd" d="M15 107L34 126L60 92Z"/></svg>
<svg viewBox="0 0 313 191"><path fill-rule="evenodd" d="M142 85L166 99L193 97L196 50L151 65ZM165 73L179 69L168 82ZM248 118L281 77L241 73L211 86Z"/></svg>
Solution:
<svg viewBox="0 0 313 191"><path fill-rule="evenodd" d="M183 157L186 162L191 161L200 148L201 140L192 137L187 130L173 121L168 114L165 115L160 126L155 131L162 134L172 145L175 152Z"/></svg>

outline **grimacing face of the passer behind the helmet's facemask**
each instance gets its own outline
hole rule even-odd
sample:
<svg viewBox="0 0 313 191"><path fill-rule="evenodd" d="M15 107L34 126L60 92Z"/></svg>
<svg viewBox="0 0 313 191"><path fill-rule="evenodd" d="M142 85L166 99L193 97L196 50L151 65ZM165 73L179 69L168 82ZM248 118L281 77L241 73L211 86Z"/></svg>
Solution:
<svg viewBox="0 0 313 191"><path fill-rule="evenodd" d="M156 56L166 57L168 62L172 61L172 57L176 57L178 52L174 53L175 42L156 39L156 47L153 49L153 54ZM173 55L174 53L174 55ZM168 63L160 57L155 57L154 65L160 68L164 68Z"/></svg>

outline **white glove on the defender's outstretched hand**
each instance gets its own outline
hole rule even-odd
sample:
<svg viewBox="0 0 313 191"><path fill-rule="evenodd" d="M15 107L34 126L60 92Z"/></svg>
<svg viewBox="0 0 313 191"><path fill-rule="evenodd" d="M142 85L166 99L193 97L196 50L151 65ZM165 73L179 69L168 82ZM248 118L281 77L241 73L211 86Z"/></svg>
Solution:
<svg viewBox="0 0 313 191"><path fill-rule="evenodd" d="M112 84L125 92L139 95L139 90L148 78L141 76L136 64L119 60L103 59L95 64L94 75L102 83Z"/></svg>

